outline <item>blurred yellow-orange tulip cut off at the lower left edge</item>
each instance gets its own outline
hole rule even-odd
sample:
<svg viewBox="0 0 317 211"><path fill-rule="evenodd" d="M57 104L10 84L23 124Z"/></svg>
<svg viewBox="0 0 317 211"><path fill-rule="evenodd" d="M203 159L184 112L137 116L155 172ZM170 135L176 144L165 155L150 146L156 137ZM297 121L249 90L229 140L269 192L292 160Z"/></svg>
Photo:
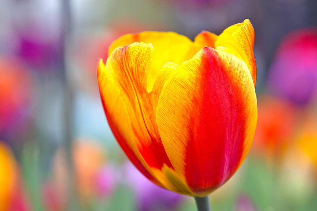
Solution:
<svg viewBox="0 0 317 211"><path fill-rule="evenodd" d="M0 142L0 210L9 208L16 189L17 166L13 152Z"/></svg>

